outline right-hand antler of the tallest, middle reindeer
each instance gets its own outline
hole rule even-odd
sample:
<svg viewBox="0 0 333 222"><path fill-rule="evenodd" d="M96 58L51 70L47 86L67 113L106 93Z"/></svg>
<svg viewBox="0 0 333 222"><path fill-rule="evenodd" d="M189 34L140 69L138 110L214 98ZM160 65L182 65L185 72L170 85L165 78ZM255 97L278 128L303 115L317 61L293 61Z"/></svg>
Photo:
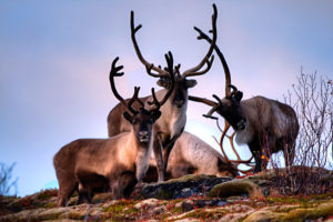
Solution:
<svg viewBox="0 0 333 222"><path fill-rule="evenodd" d="M183 72L183 77L186 78L186 77L190 77L190 75L198 75L198 74L203 74L205 72L196 72L198 70L200 70L204 63L210 59L212 52L213 52L213 49L214 49L214 46L215 46L215 42L216 42L216 38L218 38L218 31L216 31L216 19L218 19L218 9L216 9L216 6L213 4L213 10L214 10L214 13L212 16L212 32L213 32L213 40L211 42L211 47L208 51L208 53L205 54L205 57L201 60L201 62L192 68L192 69L189 69L186 71ZM195 27L194 27L195 29Z"/></svg>

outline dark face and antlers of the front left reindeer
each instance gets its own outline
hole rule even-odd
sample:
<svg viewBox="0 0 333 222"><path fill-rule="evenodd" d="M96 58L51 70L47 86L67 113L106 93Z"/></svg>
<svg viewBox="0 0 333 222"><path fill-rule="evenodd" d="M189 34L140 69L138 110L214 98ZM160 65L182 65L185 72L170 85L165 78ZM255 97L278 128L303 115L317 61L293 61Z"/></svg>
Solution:
<svg viewBox="0 0 333 222"><path fill-rule="evenodd" d="M173 59L171 52L169 52L169 56L165 54L165 59L168 62L168 69L172 69L173 65ZM164 98L161 101L158 101L154 92L154 88L151 89L153 101L149 103L151 107L149 109L144 108L144 103L138 98L140 88L134 88L133 97L130 100L124 100L117 91L115 84L114 84L114 77L121 77L123 75L123 72L119 72L123 65L115 67L117 61L119 58L115 58L111 65L110 71L110 84L111 90L114 94L114 97L128 108L128 111L123 112L123 117L125 120L128 120L132 124L133 132L135 134L137 141L140 143L149 143L150 139L152 137L152 129L153 123L160 118L161 111L160 108L165 103L165 101L171 95L171 92L174 88L174 78L170 78L170 89L165 93ZM149 70L149 68L147 68ZM172 70L171 72L172 73ZM132 105L134 102L139 102L140 108L139 110L135 110Z"/></svg>

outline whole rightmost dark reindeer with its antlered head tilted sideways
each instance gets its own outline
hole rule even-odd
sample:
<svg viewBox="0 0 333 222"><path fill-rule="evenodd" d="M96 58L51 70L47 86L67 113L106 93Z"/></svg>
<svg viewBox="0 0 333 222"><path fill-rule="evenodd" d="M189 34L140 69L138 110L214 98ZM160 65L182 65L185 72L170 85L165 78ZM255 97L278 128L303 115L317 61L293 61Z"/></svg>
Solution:
<svg viewBox="0 0 333 222"><path fill-rule="evenodd" d="M199 32L198 39L212 41L203 31L198 28L195 30ZM291 165L299 133L295 111L287 104L264 97L253 97L241 101L243 93L231 84L228 63L219 47L214 46L214 49L225 73L225 97L220 99L213 94L218 102L191 95L189 99L212 107L204 117L212 118L214 112L222 115L226 121L225 132L229 124L234 129L235 141L239 144L248 144L254 157L253 172L266 169L270 155L281 150L284 152L285 164Z"/></svg>

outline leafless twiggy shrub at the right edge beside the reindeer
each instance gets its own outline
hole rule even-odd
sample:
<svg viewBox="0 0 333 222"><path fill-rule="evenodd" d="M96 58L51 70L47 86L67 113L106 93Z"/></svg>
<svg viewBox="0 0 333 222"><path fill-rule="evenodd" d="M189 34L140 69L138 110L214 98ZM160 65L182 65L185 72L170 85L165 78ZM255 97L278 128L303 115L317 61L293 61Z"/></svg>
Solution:
<svg viewBox="0 0 333 222"><path fill-rule="evenodd" d="M333 83L316 73L304 73L284 95L294 108L300 122L295 142L294 167L283 168L278 157L272 161L282 194L325 193L333 185L325 181L324 169L333 169ZM266 150L269 152L269 150Z"/></svg>

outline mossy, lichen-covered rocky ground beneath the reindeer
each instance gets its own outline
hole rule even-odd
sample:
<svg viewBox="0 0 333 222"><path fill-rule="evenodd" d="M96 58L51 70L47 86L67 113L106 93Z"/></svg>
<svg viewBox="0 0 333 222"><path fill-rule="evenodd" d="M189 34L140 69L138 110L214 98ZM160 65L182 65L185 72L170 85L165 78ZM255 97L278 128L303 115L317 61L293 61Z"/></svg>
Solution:
<svg viewBox="0 0 333 222"><path fill-rule="evenodd" d="M56 208L57 190L24 198L1 196L0 221L333 221L333 190L317 195L280 195L269 171L230 179L186 175L140 184L131 199L97 194L93 204ZM327 184L333 183L332 172Z"/></svg>

